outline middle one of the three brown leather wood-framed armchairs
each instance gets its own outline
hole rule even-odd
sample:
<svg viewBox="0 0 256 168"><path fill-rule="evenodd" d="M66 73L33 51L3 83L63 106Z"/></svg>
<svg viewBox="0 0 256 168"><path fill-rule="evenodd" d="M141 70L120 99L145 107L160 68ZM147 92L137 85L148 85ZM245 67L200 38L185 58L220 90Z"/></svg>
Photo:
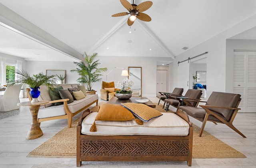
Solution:
<svg viewBox="0 0 256 168"><path fill-rule="evenodd" d="M197 107L199 102L188 101L188 100L199 101L201 95L202 95L202 91L201 90L198 90L198 89L188 89L188 91L186 92L186 94L184 96L184 97L188 97L188 99L183 99L183 102L184 102L184 100L186 100L186 103L184 103L184 104L189 104L190 106ZM178 99L178 98L175 98L175 99L165 99L164 100L164 105L165 105L165 103L168 103L167 108L166 108L166 111L167 111L170 105L173 106L173 107L178 108L178 106L181 103L181 100ZM163 106L163 108L164 108L164 106Z"/></svg>

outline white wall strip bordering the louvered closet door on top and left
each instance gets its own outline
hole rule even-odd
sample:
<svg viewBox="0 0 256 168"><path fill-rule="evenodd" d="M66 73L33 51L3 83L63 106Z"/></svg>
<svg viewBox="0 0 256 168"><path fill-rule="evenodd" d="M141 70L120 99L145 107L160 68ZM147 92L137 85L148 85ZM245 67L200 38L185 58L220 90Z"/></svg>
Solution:
<svg viewBox="0 0 256 168"><path fill-rule="evenodd" d="M234 50L256 51L256 40L226 40L226 92L233 92Z"/></svg>

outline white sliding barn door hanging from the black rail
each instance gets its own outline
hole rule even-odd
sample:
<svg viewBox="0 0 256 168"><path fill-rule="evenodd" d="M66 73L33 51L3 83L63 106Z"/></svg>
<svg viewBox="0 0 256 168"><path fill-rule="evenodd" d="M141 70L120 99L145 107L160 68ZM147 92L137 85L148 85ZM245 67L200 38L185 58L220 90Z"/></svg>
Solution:
<svg viewBox="0 0 256 168"><path fill-rule="evenodd" d="M190 61L184 61L178 64L178 82L177 87L183 88L183 94L185 95L189 89L190 83Z"/></svg>

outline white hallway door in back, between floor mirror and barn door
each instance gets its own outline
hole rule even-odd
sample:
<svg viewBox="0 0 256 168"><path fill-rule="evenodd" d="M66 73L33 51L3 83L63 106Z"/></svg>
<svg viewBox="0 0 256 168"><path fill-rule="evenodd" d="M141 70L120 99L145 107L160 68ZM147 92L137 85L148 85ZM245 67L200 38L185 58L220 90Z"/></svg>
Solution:
<svg viewBox="0 0 256 168"><path fill-rule="evenodd" d="M167 70L157 70L156 78L156 94L167 92Z"/></svg>

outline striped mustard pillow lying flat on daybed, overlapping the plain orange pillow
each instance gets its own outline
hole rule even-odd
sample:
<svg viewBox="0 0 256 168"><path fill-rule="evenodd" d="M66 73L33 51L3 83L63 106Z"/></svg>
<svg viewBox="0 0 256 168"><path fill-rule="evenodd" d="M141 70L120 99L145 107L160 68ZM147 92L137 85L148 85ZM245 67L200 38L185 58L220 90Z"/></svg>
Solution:
<svg viewBox="0 0 256 168"><path fill-rule="evenodd" d="M121 103L121 105L142 121L150 121L151 119L160 117L162 115L160 111L153 109L152 107L148 107L142 103Z"/></svg>

